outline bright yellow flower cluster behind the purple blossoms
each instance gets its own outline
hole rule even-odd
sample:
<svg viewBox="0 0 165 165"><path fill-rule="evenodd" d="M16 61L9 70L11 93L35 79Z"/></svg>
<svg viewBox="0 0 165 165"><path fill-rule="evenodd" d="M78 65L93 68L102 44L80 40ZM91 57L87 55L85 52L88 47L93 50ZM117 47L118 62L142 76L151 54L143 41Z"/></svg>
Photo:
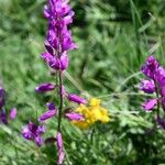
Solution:
<svg viewBox="0 0 165 165"><path fill-rule="evenodd" d="M89 106L80 105L76 111L84 116L84 120L73 121L80 129L88 129L91 124L100 121L107 123L110 121L108 111L100 106L101 100L92 98L89 100Z"/></svg>

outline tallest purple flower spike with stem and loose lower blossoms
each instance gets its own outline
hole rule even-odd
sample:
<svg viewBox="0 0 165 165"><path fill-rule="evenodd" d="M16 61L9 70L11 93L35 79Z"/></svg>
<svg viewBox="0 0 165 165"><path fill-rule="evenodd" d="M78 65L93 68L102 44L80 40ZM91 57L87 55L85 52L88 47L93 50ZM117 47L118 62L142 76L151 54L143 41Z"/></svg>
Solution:
<svg viewBox="0 0 165 165"><path fill-rule="evenodd" d="M62 118L68 120L81 121L82 114L78 112L64 111L64 99L69 102L76 102L78 105L87 103L87 101L75 95L66 91L63 85L64 72L68 68L69 58L68 51L77 48L73 41L72 32L68 25L73 23L74 11L68 4L68 0L48 0L48 4L44 7L44 16L48 20L48 29L46 34L46 41L44 43L46 52L42 53L41 58L46 63L51 70L56 74L56 84L44 82L35 88L36 92L43 94L48 91L57 91L59 106L57 107L53 102L46 103L47 110L38 117L38 123L29 123L28 127L22 129L22 135L26 140L33 140L38 146L43 144L41 138L44 131L38 131L42 127L41 122L48 120L50 118L57 117L58 127L56 134L56 142L58 148L58 163L63 164L65 154L62 138Z"/></svg>

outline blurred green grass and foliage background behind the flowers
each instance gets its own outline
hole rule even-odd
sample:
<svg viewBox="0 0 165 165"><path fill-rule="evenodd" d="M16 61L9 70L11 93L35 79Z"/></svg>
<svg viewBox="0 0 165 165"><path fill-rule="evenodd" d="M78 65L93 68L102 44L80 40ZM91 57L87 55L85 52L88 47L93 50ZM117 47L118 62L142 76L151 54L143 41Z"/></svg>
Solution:
<svg viewBox="0 0 165 165"><path fill-rule="evenodd" d="M154 114L141 109L140 68L148 54L165 57L164 0L70 0L76 12L72 26L79 48L70 52L65 85L68 91L99 97L111 122L80 131L63 122L70 165L165 163L164 131ZM0 0L0 81L7 110L18 108L18 119L0 125L0 165L53 165L56 148L25 142L21 127L41 114L52 96L35 95L37 84L53 81L40 59L46 32L44 0ZM67 125L67 127L66 127ZM56 132L48 121L45 138ZM92 135L94 134L94 135Z"/></svg>

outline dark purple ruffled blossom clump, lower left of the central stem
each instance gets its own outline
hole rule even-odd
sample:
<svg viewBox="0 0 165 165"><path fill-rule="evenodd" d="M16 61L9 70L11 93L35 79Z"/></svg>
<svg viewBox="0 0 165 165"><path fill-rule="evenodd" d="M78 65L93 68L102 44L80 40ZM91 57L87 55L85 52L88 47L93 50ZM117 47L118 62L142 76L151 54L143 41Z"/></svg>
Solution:
<svg viewBox="0 0 165 165"><path fill-rule="evenodd" d="M28 127L22 129L22 136L25 140L33 140L37 146L43 144L42 134L45 132L44 125L37 125L29 122Z"/></svg>

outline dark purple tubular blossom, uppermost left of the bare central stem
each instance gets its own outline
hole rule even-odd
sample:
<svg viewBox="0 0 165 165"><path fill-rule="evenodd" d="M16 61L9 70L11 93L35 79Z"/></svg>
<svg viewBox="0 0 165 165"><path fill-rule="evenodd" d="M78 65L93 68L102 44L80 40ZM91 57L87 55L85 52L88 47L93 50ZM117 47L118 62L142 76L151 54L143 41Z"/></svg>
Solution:
<svg viewBox="0 0 165 165"><path fill-rule="evenodd" d="M51 91L54 89L55 89L55 86L53 84L42 84L35 88L35 91L36 92L46 92L46 91Z"/></svg>

